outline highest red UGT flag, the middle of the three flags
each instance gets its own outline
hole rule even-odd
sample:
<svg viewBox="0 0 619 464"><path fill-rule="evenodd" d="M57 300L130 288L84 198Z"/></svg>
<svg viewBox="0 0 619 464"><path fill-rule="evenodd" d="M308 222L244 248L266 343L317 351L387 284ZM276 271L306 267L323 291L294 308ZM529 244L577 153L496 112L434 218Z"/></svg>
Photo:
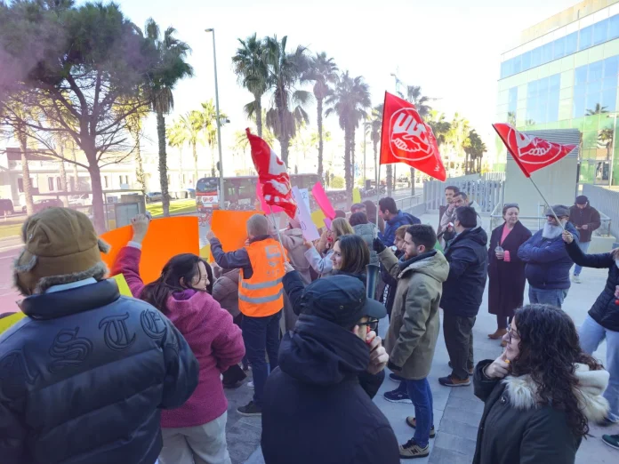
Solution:
<svg viewBox="0 0 619 464"><path fill-rule="evenodd" d="M413 103L385 92L381 164L391 163L406 163L438 180L447 178L431 127Z"/></svg>

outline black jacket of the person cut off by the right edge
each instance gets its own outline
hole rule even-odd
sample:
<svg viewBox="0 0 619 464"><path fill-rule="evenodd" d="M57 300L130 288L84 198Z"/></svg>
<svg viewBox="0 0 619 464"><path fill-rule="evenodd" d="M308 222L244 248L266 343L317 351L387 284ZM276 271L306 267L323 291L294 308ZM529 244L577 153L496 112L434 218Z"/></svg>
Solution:
<svg viewBox="0 0 619 464"><path fill-rule="evenodd" d="M584 268L608 268L607 283L589 310L589 316L605 329L619 332L619 301L615 288L619 285L619 268L612 253L584 254L576 241L566 244L569 257Z"/></svg>

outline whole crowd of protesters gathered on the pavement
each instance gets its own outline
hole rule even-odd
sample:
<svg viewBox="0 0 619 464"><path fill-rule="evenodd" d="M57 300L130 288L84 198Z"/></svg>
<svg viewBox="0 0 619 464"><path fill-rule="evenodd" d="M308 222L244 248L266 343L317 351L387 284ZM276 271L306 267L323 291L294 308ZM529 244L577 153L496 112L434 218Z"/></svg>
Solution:
<svg viewBox="0 0 619 464"><path fill-rule="evenodd" d="M256 213L244 246L224 252L209 232L213 263L174 256L149 284L149 217L133 218L110 272L83 213L28 218L14 265L27 317L0 335L0 461L230 463L225 388L250 371L237 412L261 418L267 464L427 457L442 330L452 372L439 388L472 383L485 403L474 462L574 462L590 423L618 421L619 250L586 254L600 225L586 197L553 206L535 234L505 204L488 239L478 205L445 192L436 230L390 197L336 212L315 243L299 220L277 231ZM577 331L561 305L583 268L608 278ZM107 278L118 274L133 298ZM486 281L488 337L504 351L475 364ZM591 356L603 340L605 367ZM413 405L404 444L372 401L387 372L398 388L385 399Z"/></svg>

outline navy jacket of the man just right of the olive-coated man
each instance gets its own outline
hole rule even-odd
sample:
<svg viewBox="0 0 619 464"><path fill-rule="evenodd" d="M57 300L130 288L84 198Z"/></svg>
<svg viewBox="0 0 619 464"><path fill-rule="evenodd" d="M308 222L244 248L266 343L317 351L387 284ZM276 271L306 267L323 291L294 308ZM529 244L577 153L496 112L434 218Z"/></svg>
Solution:
<svg viewBox="0 0 619 464"><path fill-rule="evenodd" d="M449 316L477 316L486 288L488 236L483 228L469 228L446 247L449 276L443 284L440 307Z"/></svg>

